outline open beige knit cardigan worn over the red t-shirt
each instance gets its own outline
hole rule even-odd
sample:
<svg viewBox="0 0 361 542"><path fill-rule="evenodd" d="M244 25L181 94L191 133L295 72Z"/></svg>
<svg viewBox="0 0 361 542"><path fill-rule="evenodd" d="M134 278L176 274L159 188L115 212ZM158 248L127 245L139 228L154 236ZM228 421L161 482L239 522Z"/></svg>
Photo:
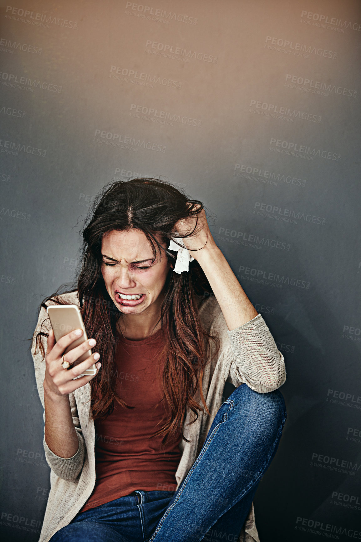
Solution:
<svg viewBox="0 0 361 542"><path fill-rule="evenodd" d="M69 305L78 305L78 293L62 294L61 299ZM192 412L187 412L183 431L190 443L181 441L179 449L182 451L181 461L176 472L177 489L194 464L199 451L203 446L205 437L222 404L222 393L225 382L236 386L246 383L249 388L260 393L266 393L279 388L286 380L285 362L278 351L275 341L263 320L261 314L237 327L228 330L221 307L215 296L206 300L199 300L199 316L208 332L217 335L221 340L217 356L205 366L203 376L203 395L210 411L198 413L198 420L187 426L190 419L194 419ZM54 305L48 301L47 305ZM42 307L36 330L48 332L50 321L46 310ZM36 335L34 335L35 337ZM47 339L41 337L45 352ZM211 352L207 349L208 359ZM35 338L31 345L34 359L37 390L44 408L43 382L45 376L45 360L37 350L35 353ZM72 408L73 422L79 438L79 449L73 457L63 458L55 455L48 448L44 438L44 450L50 470L50 492L44 515L43 526L38 542L48 542L56 531L69 524L79 512L83 504L91 495L95 485L95 429L90 408L91 384L69 394ZM200 401L199 391L195 396ZM190 414L192 418L190 418ZM45 421L45 411L44 411ZM248 517L238 542L259 542L259 536L254 519L254 506L250 508Z"/></svg>

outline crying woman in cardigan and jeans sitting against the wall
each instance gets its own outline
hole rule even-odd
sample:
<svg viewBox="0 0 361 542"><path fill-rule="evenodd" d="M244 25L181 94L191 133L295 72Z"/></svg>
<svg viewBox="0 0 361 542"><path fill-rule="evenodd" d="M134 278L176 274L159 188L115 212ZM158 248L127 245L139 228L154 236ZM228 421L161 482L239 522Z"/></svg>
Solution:
<svg viewBox="0 0 361 542"><path fill-rule="evenodd" d="M40 542L259 540L253 497L286 420L285 364L203 203L117 180L87 222L78 287L44 300L33 338L51 467ZM55 343L51 304L78 305L91 339L63 355L77 335Z"/></svg>

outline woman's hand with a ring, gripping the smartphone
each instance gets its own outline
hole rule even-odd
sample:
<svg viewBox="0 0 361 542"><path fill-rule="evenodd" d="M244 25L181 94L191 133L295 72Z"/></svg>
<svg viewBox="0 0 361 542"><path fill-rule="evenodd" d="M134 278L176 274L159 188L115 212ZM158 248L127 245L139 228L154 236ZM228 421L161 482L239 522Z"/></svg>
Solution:
<svg viewBox="0 0 361 542"><path fill-rule="evenodd" d="M58 396L59 398L62 396L68 396L69 393L87 384L87 382L94 378L94 376L96 376L99 372L101 363L96 363L95 375L85 375L73 380L73 378L81 375L87 369L89 369L89 367L91 367L96 362L96 360L100 358L99 353L94 352L83 362L72 367L72 364L78 358L80 358L83 353L87 352L90 348L95 346L95 339L88 339L79 346L76 346L72 350L69 350L69 352L64 354L65 358L62 359L62 354L63 352L65 352L67 347L72 344L76 339L79 339L79 337L81 337L81 335L83 334L82 330L79 330L81 331L80 335L76 335L75 331L76 330L71 331L67 335L64 335L57 342L55 341L54 331L49 331L47 354L45 357L46 370L44 378L44 393L47 393L47 395L53 397ZM69 369L64 369L62 367L61 364L63 361L69 362Z"/></svg>

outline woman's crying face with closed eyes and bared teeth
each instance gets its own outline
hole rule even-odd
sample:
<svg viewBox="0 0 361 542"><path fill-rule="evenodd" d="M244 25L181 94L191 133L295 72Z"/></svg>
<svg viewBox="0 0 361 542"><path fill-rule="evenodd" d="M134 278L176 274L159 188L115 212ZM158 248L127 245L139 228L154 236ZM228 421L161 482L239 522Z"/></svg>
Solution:
<svg viewBox="0 0 361 542"><path fill-rule="evenodd" d="M143 313L158 298L156 306L160 306L159 301L162 301L163 287L171 266L164 253L162 261L158 253L152 264L152 248L143 231L110 231L102 237L101 254L101 273L105 287L120 312ZM134 295L140 298L125 298Z"/></svg>

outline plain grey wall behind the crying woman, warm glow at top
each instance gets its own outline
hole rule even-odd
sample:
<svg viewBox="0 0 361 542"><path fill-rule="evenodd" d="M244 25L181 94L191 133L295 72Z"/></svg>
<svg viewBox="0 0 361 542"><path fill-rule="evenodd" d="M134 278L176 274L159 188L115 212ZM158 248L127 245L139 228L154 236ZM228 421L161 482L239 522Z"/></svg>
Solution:
<svg viewBox="0 0 361 542"><path fill-rule="evenodd" d="M262 542L361 539L360 3L1 5L4 538L38 539L49 490L25 340L37 308L74 278L96 193L151 175L215 215L286 359Z"/></svg>

